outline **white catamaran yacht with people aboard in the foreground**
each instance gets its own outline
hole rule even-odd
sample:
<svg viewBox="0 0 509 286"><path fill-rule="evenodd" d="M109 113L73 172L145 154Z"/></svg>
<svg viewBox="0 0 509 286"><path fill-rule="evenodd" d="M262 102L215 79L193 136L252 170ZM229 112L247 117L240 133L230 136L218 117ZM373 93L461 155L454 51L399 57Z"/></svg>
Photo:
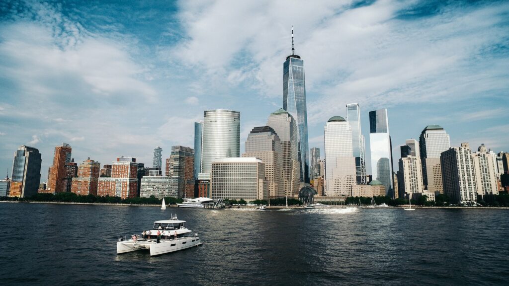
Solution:
<svg viewBox="0 0 509 286"><path fill-rule="evenodd" d="M150 256L154 256L201 245L198 234L188 230L185 222L178 220L177 216L155 221L152 229L144 231L141 237L133 235L129 240L120 238L117 242L117 254L149 250Z"/></svg>

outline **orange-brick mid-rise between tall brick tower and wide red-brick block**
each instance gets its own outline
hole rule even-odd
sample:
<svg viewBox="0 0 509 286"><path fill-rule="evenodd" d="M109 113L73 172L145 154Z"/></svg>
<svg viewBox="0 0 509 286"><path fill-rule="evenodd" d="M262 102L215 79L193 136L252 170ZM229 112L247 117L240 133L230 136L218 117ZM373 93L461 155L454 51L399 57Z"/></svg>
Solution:
<svg viewBox="0 0 509 286"><path fill-rule="evenodd" d="M104 166L106 167L107 165ZM90 157L81 162L78 166L78 177L72 180L71 191L78 195L97 195L100 167L101 163L91 160Z"/></svg>

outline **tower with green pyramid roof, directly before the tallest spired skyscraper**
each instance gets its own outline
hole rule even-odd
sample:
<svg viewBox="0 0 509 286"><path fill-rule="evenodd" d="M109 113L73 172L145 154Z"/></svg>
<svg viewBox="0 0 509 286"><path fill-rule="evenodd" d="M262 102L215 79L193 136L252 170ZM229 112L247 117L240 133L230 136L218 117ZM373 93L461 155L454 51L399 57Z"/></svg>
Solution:
<svg viewBox="0 0 509 286"><path fill-rule="evenodd" d="M290 113L280 108L270 114L267 126L270 126L281 140L282 180L285 195L298 194L300 163L297 124Z"/></svg>

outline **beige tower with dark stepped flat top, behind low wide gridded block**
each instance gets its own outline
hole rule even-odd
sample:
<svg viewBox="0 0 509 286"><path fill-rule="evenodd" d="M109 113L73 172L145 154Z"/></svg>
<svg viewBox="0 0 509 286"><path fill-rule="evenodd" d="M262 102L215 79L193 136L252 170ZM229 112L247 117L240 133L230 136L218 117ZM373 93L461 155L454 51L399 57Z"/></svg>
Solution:
<svg viewBox="0 0 509 286"><path fill-rule="evenodd" d="M255 157L265 164L265 177L269 183L271 197L284 197L282 180L281 140L269 126L254 127L247 135L242 157Z"/></svg>

